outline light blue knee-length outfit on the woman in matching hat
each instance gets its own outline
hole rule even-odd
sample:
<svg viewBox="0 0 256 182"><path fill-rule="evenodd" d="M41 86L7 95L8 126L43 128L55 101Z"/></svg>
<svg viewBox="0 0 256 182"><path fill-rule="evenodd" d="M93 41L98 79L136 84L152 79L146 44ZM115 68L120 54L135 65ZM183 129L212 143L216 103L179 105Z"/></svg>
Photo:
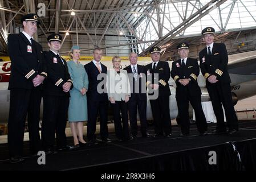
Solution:
<svg viewBox="0 0 256 182"><path fill-rule="evenodd" d="M70 105L68 107L68 121L78 122L87 121L87 96L82 96L80 90L88 89L88 76L84 66L76 64L73 60L68 61L68 72L73 81L73 88L70 90Z"/></svg>

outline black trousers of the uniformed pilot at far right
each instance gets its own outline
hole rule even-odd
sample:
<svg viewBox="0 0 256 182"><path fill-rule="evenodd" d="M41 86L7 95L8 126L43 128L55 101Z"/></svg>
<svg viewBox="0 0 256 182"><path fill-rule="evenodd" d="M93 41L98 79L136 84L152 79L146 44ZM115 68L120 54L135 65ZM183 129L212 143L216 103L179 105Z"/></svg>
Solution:
<svg viewBox="0 0 256 182"><path fill-rule="evenodd" d="M222 110L222 105L225 110L227 127L229 129L238 129L237 115L235 115L235 110L233 106L231 88L230 84L221 84L217 82L216 84L210 84L206 82L206 87L212 101L213 111L217 119L217 130L225 130L224 113ZM221 105L222 104L222 105Z"/></svg>

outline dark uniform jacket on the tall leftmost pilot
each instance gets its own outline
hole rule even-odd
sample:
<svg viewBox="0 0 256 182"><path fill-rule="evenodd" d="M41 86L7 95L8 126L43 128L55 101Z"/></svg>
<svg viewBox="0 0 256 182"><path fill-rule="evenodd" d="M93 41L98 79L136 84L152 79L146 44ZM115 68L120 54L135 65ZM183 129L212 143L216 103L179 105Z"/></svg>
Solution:
<svg viewBox="0 0 256 182"><path fill-rule="evenodd" d="M31 49L29 48L32 48ZM32 79L37 75L47 77L44 64L42 46L32 40L32 45L26 36L10 34L8 36L8 50L11 59L11 76L9 90L13 88L32 89Z"/></svg>

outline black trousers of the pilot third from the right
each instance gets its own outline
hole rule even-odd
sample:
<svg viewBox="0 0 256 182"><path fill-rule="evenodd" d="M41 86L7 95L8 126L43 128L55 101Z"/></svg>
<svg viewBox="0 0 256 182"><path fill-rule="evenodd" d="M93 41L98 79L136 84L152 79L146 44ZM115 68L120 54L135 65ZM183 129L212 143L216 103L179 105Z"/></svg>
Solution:
<svg viewBox="0 0 256 182"><path fill-rule="evenodd" d="M155 124L155 133L157 135L169 135L172 133L170 122L169 96L158 97L156 100L150 100L153 120Z"/></svg>

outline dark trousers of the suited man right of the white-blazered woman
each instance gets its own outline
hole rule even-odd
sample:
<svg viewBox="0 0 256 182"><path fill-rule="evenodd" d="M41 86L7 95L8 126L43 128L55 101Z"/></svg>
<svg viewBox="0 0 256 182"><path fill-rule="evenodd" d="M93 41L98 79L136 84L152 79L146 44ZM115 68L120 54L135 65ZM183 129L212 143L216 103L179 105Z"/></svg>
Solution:
<svg viewBox="0 0 256 182"><path fill-rule="evenodd" d="M132 135L137 135L138 125L137 125L137 109L140 115L140 130L141 134L145 135L147 133L147 100L140 100L137 94L133 94L128 102L129 120L131 125Z"/></svg>

